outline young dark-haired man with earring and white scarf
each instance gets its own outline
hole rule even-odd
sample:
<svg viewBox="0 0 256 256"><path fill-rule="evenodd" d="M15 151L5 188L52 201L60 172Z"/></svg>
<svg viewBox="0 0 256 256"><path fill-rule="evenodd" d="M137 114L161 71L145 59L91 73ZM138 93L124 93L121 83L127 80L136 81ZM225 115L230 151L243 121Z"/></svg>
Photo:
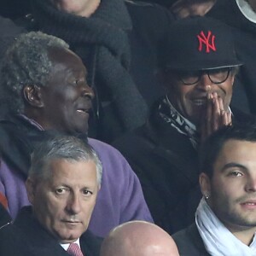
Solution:
<svg viewBox="0 0 256 256"><path fill-rule="evenodd" d="M184 256L256 254L256 123L224 127L203 145L195 224L173 236Z"/></svg>

